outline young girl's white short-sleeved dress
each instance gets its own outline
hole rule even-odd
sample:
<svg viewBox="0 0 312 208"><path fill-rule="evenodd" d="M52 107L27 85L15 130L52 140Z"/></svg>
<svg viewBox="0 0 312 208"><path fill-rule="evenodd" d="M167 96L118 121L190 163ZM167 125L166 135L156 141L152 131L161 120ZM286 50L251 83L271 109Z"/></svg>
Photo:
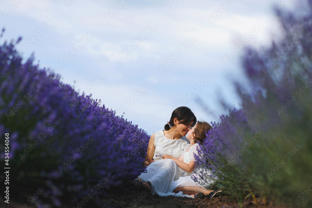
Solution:
<svg viewBox="0 0 312 208"><path fill-rule="evenodd" d="M188 144L186 146L186 148L189 148L189 150L187 150L185 153L182 154L183 156L183 162L184 163L190 163L190 162L195 162L195 157L194 154L198 155L198 150L200 150L200 146L199 144L193 144L191 146L191 144ZM181 157L182 157L181 156ZM211 174L209 170L203 170L202 168L198 168L196 169L196 173L194 173L194 171L192 171L191 173L187 173L183 175L183 177L179 177L178 180L173 181L172 183L172 187L171 189L174 190L176 187L185 187L185 186L203 186L203 187L207 187L208 185L210 185L213 181L211 180L202 180L200 179L198 173L202 173L202 174ZM192 178L198 178L198 182L195 182Z"/></svg>

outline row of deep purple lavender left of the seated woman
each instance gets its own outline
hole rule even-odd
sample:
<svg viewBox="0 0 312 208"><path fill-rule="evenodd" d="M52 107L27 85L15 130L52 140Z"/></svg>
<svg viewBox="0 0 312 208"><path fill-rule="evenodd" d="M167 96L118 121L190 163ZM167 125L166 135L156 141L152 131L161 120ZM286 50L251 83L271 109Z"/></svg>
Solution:
<svg viewBox="0 0 312 208"><path fill-rule="evenodd" d="M149 135L41 69L33 55L23 63L15 48L20 40L0 45L0 135L10 134L10 200L29 205L42 187L32 201L37 206L75 205L142 173ZM4 164L4 145L0 151Z"/></svg>

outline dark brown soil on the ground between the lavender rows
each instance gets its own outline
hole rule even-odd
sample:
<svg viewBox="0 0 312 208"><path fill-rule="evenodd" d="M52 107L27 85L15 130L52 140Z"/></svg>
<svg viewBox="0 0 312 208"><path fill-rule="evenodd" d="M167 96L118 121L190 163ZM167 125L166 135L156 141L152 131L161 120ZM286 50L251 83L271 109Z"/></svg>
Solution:
<svg viewBox="0 0 312 208"><path fill-rule="evenodd" d="M102 198L102 197L101 197ZM0 200L0 207L17 208L22 207L20 203L14 203L10 201L10 204L3 203ZM144 194L143 192L124 192L123 194L113 194L109 198L102 198L102 206L95 205L93 202L88 202L82 208L240 208L241 206L229 200L227 196L218 196L210 199L194 199L188 197L175 197L175 196L159 196L158 194ZM242 208L287 208L287 206L275 206L272 202L266 204L257 199L258 206L252 197L246 199L242 203ZM48 205L48 208L54 206ZM72 205L63 204L59 208L72 208ZM76 207L76 206L75 206ZM28 206L28 208L35 208L34 206Z"/></svg>

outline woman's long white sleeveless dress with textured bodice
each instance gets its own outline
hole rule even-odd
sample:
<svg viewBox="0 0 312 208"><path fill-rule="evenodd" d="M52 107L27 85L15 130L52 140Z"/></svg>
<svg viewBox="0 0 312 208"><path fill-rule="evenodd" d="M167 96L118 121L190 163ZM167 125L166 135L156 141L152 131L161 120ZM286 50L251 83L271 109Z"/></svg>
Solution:
<svg viewBox="0 0 312 208"><path fill-rule="evenodd" d="M182 176L184 171L173 159L164 160L161 156L168 154L180 158L187 144L189 144L189 140L185 136L180 139L168 139L163 134L163 130L155 133L153 159L156 161L147 166L146 173L139 175L142 182L150 181L152 183L151 193L172 192L172 190L168 190L168 187L172 187L172 182Z"/></svg>

